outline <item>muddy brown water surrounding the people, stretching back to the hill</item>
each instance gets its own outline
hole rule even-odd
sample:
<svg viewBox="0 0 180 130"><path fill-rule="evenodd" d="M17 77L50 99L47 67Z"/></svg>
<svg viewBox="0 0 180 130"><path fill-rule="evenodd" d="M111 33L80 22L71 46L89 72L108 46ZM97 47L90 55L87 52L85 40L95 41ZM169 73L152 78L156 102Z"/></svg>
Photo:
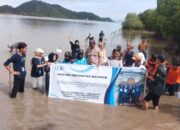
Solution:
<svg viewBox="0 0 180 130"><path fill-rule="evenodd" d="M7 43L25 41L28 43L26 67L28 70L25 93L16 99L8 97L8 73L0 67L0 130L180 130L180 100L164 96L160 111L143 111L136 107L111 107L93 103L56 100L31 89L29 61L36 47L43 47L46 54L57 47L68 50L67 34L72 32L81 46L84 38L91 32L97 37L100 30L105 31L107 48L117 44L125 47L126 39L118 37L118 23L84 23L77 21L58 21L19 16L0 17L0 63L8 56ZM140 36L133 38L136 47ZM160 52L159 44L149 39L149 52ZM135 51L137 49L135 48Z"/></svg>

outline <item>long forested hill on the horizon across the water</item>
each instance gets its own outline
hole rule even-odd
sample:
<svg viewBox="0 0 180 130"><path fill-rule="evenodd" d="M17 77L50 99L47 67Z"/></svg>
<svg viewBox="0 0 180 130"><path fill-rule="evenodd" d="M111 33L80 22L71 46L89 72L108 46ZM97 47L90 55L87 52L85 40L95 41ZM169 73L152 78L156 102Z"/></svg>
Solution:
<svg viewBox="0 0 180 130"><path fill-rule="evenodd" d="M28 16L55 17L65 19L81 19L112 22L110 18L101 18L89 12L75 12L63 8L57 4L48 4L38 0L32 0L13 8L8 5L0 6L0 13L10 13Z"/></svg>

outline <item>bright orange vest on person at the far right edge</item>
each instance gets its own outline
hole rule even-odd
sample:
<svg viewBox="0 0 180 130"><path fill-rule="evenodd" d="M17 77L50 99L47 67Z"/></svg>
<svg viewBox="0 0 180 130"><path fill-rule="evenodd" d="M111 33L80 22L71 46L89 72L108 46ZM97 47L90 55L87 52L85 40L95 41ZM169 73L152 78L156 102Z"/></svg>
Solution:
<svg viewBox="0 0 180 130"><path fill-rule="evenodd" d="M173 68L172 66L168 68L168 73L166 77L166 83L169 85L176 84L178 78L178 68Z"/></svg>

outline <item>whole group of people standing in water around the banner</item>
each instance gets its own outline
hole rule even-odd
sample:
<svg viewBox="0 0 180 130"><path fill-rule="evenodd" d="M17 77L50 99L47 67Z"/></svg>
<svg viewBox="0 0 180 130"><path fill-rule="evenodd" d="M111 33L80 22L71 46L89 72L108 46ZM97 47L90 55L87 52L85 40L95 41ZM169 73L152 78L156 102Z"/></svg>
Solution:
<svg viewBox="0 0 180 130"><path fill-rule="evenodd" d="M142 37L142 42L138 45L139 52L133 51L133 46L130 42L127 43L127 48L121 51L121 46L118 45L112 50L112 55L107 57L106 47L103 40L104 33L100 33L98 45L94 37L89 36L89 47L84 52L80 48L78 40L72 42L69 36L69 43L71 45L71 52L64 53L63 61L58 60L58 53L51 52L48 58L44 58L44 50L37 48L34 51L34 57L31 60L31 77L32 88L43 89L43 77L45 73L45 91L48 94L49 91L49 77L50 77L50 65L52 63L64 63L64 64L80 64L80 65L96 65L96 66L113 66L113 67L138 67L147 71L147 86L149 92L144 98L144 108L148 108L148 102L153 101L155 109L158 109L160 96L164 94L165 84L167 83L166 90L170 95L174 95L177 91L177 86L180 84L180 71L179 64L172 64L167 66L166 59L163 55L152 55L147 58L148 43L145 37ZM11 98L15 98L17 92L24 92L24 82L26 76L25 70L25 56L27 51L26 43L20 42L17 45L18 51L12 55L5 63L6 69L14 75L14 86L10 93ZM61 51L60 51L61 52ZM13 63L13 69L9 66ZM168 68L167 68L168 67ZM167 71L168 70L168 71ZM176 74L176 79L172 78L172 74Z"/></svg>

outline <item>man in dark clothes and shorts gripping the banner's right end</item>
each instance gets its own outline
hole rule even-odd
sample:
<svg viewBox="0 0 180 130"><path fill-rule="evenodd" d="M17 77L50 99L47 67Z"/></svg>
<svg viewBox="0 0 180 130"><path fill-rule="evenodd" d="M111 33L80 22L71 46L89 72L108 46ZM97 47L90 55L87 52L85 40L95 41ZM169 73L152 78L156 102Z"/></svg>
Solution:
<svg viewBox="0 0 180 130"><path fill-rule="evenodd" d="M151 76L149 74L146 77L150 80L149 84L149 93L144 98L144 110L148 109L148 102L152 100L154 109L157 111L159 109L159 99L161 95L164 94L165 82L166 82L166 74L167 70L164 65L165 57L163 55L159 55L157 58L157 63L159 64L156 74Z"/></svg>

